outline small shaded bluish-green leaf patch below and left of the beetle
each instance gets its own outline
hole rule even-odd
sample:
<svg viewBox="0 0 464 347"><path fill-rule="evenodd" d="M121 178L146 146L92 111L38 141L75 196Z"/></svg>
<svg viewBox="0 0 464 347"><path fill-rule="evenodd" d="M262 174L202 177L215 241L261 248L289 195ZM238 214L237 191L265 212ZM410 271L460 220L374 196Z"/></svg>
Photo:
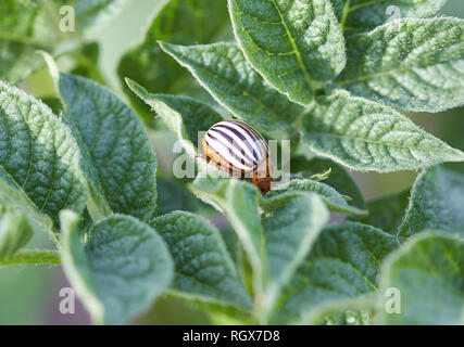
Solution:
<svg viewBox="0 0 464 347"><path fill-rule="evenodd" d="M177 181L159 178L156 190L159 216L175 210L196 211L198 209L197 197Z"/></svg>

